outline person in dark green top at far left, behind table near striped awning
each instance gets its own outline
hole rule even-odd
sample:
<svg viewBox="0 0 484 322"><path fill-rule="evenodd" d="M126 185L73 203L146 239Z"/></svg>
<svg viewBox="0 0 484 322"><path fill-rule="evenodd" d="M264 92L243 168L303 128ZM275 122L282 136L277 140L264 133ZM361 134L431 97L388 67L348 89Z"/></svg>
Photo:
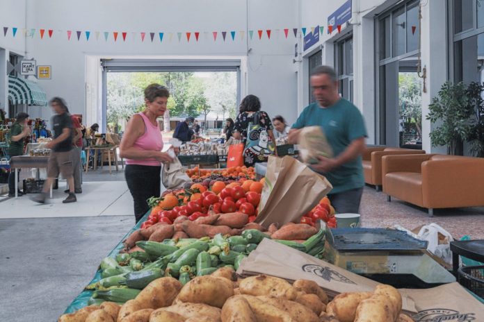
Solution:
<svg viewBox="0 0 484 322"><path fill-rule="evenodd" d="M24 154L25 138L31 135L31 129L29 128L29 115L24 112L19 112L15 119L15 122L10 128L10 147L8 148L8 155L10 158L17 155ZM17 171L20 171L18 169ZM18 177L17 177L18 178ZM23 193L17 191L18 196L22 196ZM8 175L8 196L15 196L15 171L10 171Z"/></svg>

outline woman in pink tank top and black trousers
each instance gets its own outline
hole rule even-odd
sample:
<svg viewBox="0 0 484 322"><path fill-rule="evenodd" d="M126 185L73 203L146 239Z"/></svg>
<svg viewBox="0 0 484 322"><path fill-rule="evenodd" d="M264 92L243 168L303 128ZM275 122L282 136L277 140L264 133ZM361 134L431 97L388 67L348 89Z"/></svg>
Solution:
<svg viewBox="0 0 484 322"><path fill-rule="evenodd" d="M122 137L120 155L126 159L124 176L133 196L136 222L150 210L147 199L160 195L161 163L172 161L168 153L161 152L163 138L156 121L165 114L168 97L165 86L146 87L146 108L131 117Z"/></svg>

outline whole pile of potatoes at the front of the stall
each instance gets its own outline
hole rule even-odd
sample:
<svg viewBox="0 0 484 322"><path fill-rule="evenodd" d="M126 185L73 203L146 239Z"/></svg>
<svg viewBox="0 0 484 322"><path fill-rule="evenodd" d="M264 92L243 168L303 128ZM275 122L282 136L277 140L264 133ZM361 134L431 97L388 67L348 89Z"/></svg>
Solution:
<svg viewBox="0 0 484 322"><path fill-rule="evenodd" d="M90 305L58 322L408 322L396 289L379 285L373 293L339 294L328 303L310 280L272 276L237 278L229 267L182 286L159 278L124 305Z"/></svg>

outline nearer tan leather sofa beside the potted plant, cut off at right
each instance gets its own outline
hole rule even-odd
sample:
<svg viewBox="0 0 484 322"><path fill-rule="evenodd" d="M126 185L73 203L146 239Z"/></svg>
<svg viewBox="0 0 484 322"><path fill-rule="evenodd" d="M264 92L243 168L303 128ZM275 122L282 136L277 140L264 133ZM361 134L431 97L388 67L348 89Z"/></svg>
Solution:
<svg viewBox="0 0 484 322"><path fill-rule="evenodd" d="M385 155L383 192L428 208L484 205L484 158L442 154Z"/></svg>

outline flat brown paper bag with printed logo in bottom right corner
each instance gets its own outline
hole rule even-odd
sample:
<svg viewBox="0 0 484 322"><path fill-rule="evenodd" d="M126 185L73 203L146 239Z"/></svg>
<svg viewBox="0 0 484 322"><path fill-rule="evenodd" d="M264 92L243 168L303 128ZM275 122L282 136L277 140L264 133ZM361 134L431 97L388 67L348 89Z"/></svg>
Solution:
<svg viewBox="0 0 484 322"><path fill-rule="evenodd" d="M457 282L432 289L399 289L417 307L416 322L455 321L483 322L484 305Z"/></svg>

